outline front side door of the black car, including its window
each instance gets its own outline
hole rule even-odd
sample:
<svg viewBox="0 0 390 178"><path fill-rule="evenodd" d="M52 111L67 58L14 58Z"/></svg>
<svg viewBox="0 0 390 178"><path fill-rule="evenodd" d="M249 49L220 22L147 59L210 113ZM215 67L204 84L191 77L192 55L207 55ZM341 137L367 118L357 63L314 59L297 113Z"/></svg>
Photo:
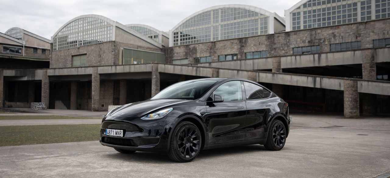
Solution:
<svg viewBox="0 0 390 178"><path fill-rule="evenodd" d="M223 102L207 103L205 115L208 145L245 141L246 105L241 81L220 85L211 96L222 96Z"/></svg>

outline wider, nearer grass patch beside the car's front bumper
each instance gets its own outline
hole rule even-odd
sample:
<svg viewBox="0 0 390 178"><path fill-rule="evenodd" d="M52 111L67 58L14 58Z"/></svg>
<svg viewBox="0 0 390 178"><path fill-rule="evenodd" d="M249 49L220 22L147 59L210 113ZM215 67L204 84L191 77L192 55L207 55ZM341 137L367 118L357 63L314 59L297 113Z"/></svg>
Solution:
<svg viewBox="0 0 390 178"><path fill-rule="evenodd" d="M0 146L97 141L100 124L0 126Z"/></svg>

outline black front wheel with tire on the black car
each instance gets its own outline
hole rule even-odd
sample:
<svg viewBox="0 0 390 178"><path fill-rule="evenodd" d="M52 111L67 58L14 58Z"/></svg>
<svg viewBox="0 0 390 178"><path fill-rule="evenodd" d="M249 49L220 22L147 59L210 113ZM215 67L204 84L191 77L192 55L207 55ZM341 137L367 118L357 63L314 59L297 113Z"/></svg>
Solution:
<svg viewBox="0 0 390 178"><path fill-rule="evenodd" d="M168 157L176 162L194 160L202 147L202 135L199 128L188 121L182 121L174 128L168 151Z"/></svg>

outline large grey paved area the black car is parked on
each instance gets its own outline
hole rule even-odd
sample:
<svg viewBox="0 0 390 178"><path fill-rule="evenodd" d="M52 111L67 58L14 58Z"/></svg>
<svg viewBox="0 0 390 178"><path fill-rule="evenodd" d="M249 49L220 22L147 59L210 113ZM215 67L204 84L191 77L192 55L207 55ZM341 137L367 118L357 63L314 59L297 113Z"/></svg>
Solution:
<svg viewBox="0 0 390 178"><path fill-rule="evenodd" d="M373 178L390 171L389 118L292 115L293 130L281 151L267 151L261 145L203 150L193 162L176 163L158 153L124 155L97 141L9 146L0 147L0 173L1 177Z"/></svg>

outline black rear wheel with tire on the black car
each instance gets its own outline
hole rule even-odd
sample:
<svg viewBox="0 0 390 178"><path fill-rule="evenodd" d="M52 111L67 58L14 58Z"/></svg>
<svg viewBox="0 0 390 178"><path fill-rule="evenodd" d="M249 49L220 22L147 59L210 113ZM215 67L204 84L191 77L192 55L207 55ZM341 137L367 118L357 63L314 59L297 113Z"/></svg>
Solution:
<svg viewBox="0 0 390 178"><path fill-rule="evenodd" d="M264 144L264 147L267 150L279 151L282 150L286 143L287 131L280 120L273 120L271 123L271 128L267 134L267 142Z"/></svg>

